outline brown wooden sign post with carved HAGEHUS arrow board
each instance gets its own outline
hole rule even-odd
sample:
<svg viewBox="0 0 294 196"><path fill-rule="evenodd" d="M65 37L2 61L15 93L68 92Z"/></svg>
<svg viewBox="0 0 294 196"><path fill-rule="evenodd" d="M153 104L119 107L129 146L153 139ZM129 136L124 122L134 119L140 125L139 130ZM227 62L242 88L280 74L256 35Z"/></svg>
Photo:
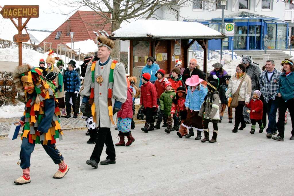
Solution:
<svg viewBox="0 0 294 196"><path fill-rule="evenodd" d="M22 65L22 42L27 42L29 35L21 35L21 32L31 18L39 18L39 5L5 5L0 13L3 18L9 18L18 30L19 34L14 35L13 40L19 43L19 65ZM18 25L13 18L18 18ZM21 22L22 18L27 18L24 24Z"/></svg>

